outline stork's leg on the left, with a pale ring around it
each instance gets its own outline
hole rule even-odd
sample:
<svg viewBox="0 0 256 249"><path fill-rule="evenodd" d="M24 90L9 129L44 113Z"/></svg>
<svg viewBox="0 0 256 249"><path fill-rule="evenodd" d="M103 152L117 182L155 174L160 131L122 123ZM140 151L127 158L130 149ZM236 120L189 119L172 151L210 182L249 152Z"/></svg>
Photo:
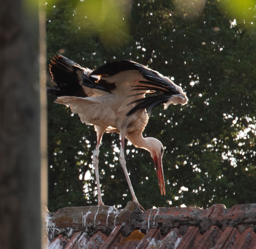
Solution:
<svg viewBox="0 0 256 249"><path fill-rule="evenodd" d="M96 181L97 181L97 191L98 191L98 206L102 206L103 201L101 198L101 191L100 191L100 177L99 177L99 160L98 160L98 156L99 156L99 149L100 149L100 143L101 143L101 139L102 136L104 134L104 132L106 131L107 127L100 127L100 126L94 126L95 131L97 132L97 144L96 144L96 149L93 151L93 157L92 157L92 161L93 161L93 165L95 168L95 176L96 176Z"/></svg>

